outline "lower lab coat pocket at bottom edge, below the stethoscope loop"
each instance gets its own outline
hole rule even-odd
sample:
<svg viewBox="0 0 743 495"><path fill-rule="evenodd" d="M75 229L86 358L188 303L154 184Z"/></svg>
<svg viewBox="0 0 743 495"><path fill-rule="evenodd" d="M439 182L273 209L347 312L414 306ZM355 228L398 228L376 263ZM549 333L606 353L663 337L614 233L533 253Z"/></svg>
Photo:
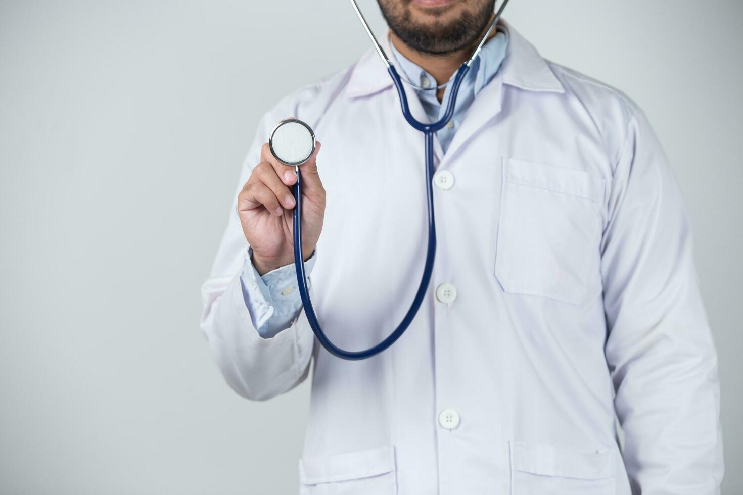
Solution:
<svg viewBox="0 0 743 495"><path fill-rule="evenodd" d="M380 447L299 461L300 495L395 495L395 449Z"/></svg>

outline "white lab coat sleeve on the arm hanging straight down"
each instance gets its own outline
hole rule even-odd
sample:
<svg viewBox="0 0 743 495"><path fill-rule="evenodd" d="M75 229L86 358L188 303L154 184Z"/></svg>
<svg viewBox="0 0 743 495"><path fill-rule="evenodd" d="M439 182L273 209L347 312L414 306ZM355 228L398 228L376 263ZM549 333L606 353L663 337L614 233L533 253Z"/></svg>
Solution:
<svg viewBox="0 0 743 495"><path fill-rule="evenodd" d="M717 354L681 191L639 108L613 176L601 245L606 359L633 493L718 494Z"/></svg>

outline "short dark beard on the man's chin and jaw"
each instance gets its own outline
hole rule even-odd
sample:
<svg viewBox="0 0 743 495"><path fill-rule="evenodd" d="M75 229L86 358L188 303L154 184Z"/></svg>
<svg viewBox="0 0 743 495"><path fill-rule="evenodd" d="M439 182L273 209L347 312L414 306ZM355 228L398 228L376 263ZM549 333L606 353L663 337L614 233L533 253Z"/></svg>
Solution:
<svg viewBox="0 0 743 495"><path fill-rule="evenodd" d="M450 6L432 7L434 22L417 22L412 0L378 0L389 28L403 43L419 53L447 55L474 45L493 17L496 0L481 0L472 9L464 9L454 19L441 20Z"/></svg>

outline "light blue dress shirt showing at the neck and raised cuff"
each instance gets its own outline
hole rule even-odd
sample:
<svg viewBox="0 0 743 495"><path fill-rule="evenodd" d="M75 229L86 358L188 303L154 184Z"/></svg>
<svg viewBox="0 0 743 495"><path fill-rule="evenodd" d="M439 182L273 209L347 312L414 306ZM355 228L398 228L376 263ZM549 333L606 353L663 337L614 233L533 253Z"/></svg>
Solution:
<svg viewBox="0 0 743 495"><path fill-rule="evenodd" d="M424 71L415 63L406 59L392 43L389 44L392 51L393 62L402 70L403 76L409 81L421 85L424 88L436 84L431 74ZM484 88L498 72L508 47L508 34L499 30L496 36L490 38L483 45L479 56L470 67L470 71L461 83L457 101L455 103L454 115L446 127L436 133L436 137L444 152L454 138L454 134L461 125L464 116L470 109L477 94ZM447 102L451 85L444 90L443 102ZM416 90L418 99L426 111L429 122L435 122L441 118L446 111L446 106L436 98L436 91ZM253 326L263 338L271 338L285 328L289 327L296 318L299 309L302 308L302 299L299 297L299 289L296 285L296 270L294 265L286 265L272 270L261 276L253 266L253 250L248 249L245 253L245 263L241 274L243 295L245 304L250 312ZM312 253L311 258L305 263L305 271L309 277L317 256Z"/></svg>

